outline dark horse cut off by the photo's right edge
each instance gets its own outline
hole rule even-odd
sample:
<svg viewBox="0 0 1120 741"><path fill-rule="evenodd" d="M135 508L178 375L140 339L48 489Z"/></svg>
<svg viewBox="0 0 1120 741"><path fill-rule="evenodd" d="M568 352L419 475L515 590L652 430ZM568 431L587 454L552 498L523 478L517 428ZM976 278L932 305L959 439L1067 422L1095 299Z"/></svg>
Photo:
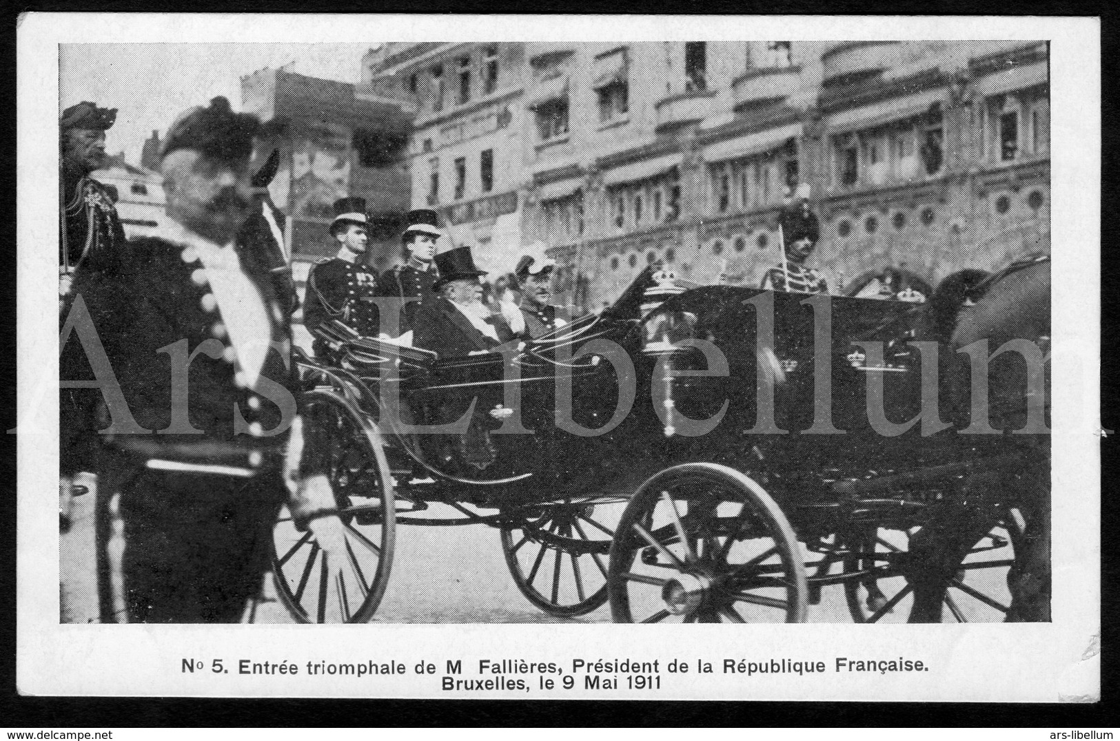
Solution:
<svg viewBox="0 0 1120 741"><path fill-rule="evenodd" d="M1015 547L1007 581L1011 604L1006 620L1048 621L1051 594L1051 448L1048 429L1025 430L1032 420L1035 394L1048 423L1049 375L1045 356L1051 336L1051 263L1048 255L1011 263L995 274L962 271L946 278L926 309L924 327L930 339L944 341L953 356L942 364L941 391L950 397L950 415L958 433L977 423L971 419L971 355L967 349L988 341L991 357L1016 340L1035 344L1044 357L1044 377L1032 377L1030 364L1015 353L993 358L988 369L988 403L977 409L990 413L1000 434L961 434L962 452L1018 453L1006 469L970 475L961 484L961 501L946 504L936 522L914 543L923 564L914 578L911 621L940 621L948 587L959 564L980 537L990 531L991 506L1001 507L1004 524ZM1019 343L1021 347L1021 343ZM1010 347L1010 346L1009 346ZM955 357L954 357L955 356ZM965 402L964 400L969 400ZM1008 435L1011 431L1026 434ZM1021 515L1011 520L1012 509Z"/></svg>

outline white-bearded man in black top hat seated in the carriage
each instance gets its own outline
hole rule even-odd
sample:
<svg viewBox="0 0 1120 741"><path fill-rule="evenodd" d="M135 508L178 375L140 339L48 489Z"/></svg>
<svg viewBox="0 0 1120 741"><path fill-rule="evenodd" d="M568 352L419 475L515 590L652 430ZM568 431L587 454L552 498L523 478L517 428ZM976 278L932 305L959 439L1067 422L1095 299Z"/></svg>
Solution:
<svg viewBox="0 0 1120 741"><path fill-rule="evenodd" d="M437 297L416 313L413 329L417 347L435 350L442 357L489 353L498 345L516 339L500 313L483 302L479 278L486 271L475 266L470 247L463 246L436 255L439 279Z"/></svg>

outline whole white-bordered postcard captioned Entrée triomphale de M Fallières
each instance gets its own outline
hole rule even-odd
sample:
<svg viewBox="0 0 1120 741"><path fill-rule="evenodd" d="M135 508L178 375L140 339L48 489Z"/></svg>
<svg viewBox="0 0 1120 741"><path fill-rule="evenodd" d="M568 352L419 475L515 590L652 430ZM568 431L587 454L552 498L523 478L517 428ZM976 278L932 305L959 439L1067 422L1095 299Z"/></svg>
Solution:
<svg viewBox="0 0 1120 741"><path fill-rule="evenodd" d="M1099 698L1094 19L18 40L20 692Z"/></svg>

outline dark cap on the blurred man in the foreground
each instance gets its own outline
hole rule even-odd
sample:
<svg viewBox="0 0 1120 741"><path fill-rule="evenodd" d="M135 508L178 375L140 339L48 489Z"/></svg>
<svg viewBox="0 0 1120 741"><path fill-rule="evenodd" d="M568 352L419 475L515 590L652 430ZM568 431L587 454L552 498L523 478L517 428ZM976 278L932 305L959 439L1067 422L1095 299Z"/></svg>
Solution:
<svg viewBox="0 0 1120 741"><path fill-rule="evenodd" d="M179 114L167 131L160 157L177 149L194 149L206 157L234 163L253 153L253 138L261 130L260 120L250 113L234 113L223 96L209 106L195 106Z"/></svg>

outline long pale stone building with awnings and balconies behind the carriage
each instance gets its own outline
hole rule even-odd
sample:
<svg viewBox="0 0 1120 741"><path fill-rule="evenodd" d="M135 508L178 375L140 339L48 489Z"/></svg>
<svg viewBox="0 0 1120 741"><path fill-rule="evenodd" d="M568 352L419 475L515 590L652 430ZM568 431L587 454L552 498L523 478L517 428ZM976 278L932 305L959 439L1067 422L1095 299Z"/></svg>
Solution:
<svg viewBox="0 0 1120 741"><path fill-rule="evenodd" d="M936 284L1049 246L1045 43L395 46L364 74L420 111L412 205L470 227L491 269L544 242L591 309L656 261L757 285L797 182L833 292L888 266ZM487 150L505 214L477 205Z"/></svg>

